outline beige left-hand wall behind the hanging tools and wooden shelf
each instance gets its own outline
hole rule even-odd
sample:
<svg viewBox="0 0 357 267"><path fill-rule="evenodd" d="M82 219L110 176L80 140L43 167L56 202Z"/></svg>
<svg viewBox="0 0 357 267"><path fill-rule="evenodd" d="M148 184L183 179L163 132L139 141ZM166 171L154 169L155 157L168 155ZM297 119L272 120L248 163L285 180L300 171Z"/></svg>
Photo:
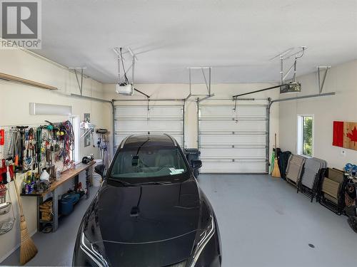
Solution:
<svg viewBox="0 0 357 267"><path fill-rule="evenodd" d="M25 51L0 50L0 72L59 88L57 91L49 91L0 80L0 128L3 125L44 124L44 120L59 122L68 118L56 115L30 115L29 103L31 102L71 105L74 115L79 115L81 120L84 112L89 112L95 125L106 127L102 120L102 109L108 104L71 98L69 94L79 93L79 88L74 73L69 72L66 68L49 63ZM84 79L84 95L102 97L102 84L90 78ZM92 146L84 147L84 140L80 140L80 144L80 158L90 153L97 153L97 149ZM21 179L22 177L18 175L18 184L21 183ZM0 262L16 248L20 241L18 205L16 194L14 194L14 184L10 184L9 191L14 204L16 224L14 229L0 236ZM23 197L22 201L29 232L34 234L36 231L36 199ZM0 219L3 219L2 217L4 216L1 216Z"/></svg>

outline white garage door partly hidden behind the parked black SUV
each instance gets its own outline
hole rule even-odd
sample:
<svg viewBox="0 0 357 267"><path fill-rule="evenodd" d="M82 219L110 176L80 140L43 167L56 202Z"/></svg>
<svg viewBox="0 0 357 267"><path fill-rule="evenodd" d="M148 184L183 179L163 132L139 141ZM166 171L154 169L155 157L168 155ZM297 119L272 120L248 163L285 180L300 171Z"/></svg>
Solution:
<svg viewBox="0 0 357 267"><path fill-rule="evenodd" d="M116 105L115 147L128 135L166 133L183 145L183 105Z"/></svg>

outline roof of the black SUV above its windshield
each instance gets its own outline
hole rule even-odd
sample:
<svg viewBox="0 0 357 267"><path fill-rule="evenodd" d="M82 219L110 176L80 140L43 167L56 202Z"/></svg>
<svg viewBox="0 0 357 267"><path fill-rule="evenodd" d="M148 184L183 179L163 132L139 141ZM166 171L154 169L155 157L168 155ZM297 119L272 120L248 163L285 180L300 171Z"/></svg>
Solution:
<svg viewBox="0 0 357 267"><path fill-rule="evenodd" d="M174 137L170 135L130 135L126 137L121 143L121 148L127 147L141 147L142 145L146 146L161 146L161 147L177 147L177 142Z"/></svg>

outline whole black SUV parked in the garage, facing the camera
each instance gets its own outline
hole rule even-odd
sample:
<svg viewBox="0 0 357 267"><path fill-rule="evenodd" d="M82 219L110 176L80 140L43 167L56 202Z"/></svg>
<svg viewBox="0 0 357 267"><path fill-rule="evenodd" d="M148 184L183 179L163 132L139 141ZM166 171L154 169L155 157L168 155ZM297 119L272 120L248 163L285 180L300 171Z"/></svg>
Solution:
<svg viewBox="0 0 357 267"><path fill-rule="evenodd" d="M74 266L221 266L216 216L169 135L131 135L79 226Z"/></svg>

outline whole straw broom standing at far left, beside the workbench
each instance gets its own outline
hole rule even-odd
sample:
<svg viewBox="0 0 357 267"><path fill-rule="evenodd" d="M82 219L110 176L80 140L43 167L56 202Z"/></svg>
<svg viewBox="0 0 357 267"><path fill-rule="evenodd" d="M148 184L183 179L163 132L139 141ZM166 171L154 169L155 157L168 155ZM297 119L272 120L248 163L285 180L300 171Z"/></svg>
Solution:
<svg viewBox="0 0 357 267"><path fill-rule="evenodd" d="M20 263L24 265L26 262L34 258L37 253L37 248L29 236L29 231L27 230L26 220L24 216L24 211L22 209L21 197L19 194L19 189L16 184L16 174L14 175L14 185L16 190L17 201L20 207L20 234L21 234L21 244L20 244Z"/></svg>

